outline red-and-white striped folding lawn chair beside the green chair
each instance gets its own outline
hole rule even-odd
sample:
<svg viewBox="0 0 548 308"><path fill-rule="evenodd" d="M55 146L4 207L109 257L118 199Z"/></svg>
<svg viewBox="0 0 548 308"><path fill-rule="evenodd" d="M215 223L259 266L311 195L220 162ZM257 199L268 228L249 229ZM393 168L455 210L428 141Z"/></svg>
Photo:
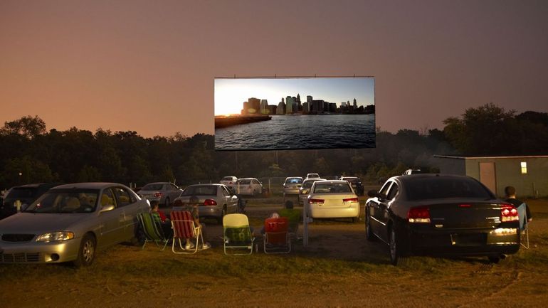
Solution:
<svg viewBox="0 0 548 308"><path fill-rule="evenodd" d="M171 217L173 226L173 253L194 254L199 250L199 240L201 240L201 247L204 247L204 236L201 234L201 226L196 227L194 225L194 218L189 211L172 211ZM187 238L191 240L191 243L196 240L196 243L193 243L194 248L190 250L185 250L183 246L186 244ZM175 247L176 240L179 242L179 249Z"/></svg>

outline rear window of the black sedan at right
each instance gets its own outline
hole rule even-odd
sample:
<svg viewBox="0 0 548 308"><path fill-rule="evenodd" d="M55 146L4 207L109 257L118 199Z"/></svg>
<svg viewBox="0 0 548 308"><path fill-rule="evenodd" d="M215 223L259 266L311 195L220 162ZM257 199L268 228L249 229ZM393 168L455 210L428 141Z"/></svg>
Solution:
<svg viewBox="0 0 548 308"><path fill-rule="evenodd" d="M419 178L406 181L408 200L441 198L494 198L478 181L467 178L443 179L438 177Z"/></svg>

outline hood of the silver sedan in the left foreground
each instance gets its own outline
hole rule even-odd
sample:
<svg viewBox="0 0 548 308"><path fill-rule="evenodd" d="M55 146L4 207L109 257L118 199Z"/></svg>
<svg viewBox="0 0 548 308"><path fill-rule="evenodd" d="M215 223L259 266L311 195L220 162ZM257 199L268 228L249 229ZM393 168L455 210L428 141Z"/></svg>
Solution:
<svg viewBox="0 0 548 308"><path fill-rule="evenodd" d="M43 233L68 230L95 213L16 213L0 221L0 233Z"/></svg>

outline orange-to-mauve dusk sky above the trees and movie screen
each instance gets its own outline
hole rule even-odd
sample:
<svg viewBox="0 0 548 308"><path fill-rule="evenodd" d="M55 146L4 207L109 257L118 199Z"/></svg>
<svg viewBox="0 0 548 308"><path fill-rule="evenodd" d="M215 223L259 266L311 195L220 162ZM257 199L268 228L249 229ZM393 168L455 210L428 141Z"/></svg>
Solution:
<svg viewBox="0 0 548 308"><path fill-rule="evenodd" d="M374 76L389 132L489 102L548 112L547 16L544 0L0 0L0 125L214 134L229 76Z"/></svg>

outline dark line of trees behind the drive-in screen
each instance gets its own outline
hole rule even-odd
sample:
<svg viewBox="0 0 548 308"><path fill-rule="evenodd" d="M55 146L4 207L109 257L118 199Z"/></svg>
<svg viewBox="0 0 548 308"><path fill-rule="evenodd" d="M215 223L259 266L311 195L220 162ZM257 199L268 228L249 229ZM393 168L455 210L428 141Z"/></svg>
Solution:
<svg viewBox="0 0 548 308"><path fill-rule="evenodd" d="M449 117L440 129L376 132L374 149L216 152L214 136L144 138L135 131L46 130L38 116L0 128L0 188L39 182L152 181L179 185L222 176L360 176L378 183L409 168L436 171L433 154L548 154L548 114L505 111L490 103Z"/></svg>

